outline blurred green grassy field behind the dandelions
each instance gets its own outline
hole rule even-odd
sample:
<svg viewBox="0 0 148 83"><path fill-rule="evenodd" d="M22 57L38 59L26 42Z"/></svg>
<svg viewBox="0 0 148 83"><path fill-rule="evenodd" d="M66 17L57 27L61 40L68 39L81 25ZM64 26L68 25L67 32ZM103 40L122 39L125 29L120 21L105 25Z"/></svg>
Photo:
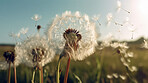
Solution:
<svg viewBox="0 0 148 83"><path fill-rule="evenodd" d="M130 48L128 51L134 53L134 57L131 58L131 65L137 67L137 72L133 72L133 77L138 83L148 83L148 50L141 48L143 39L139 39L134 42L128 42ZM0 45L0 56L2 57L3 52L7 50L13 50L13 45ZM0 58L1 60L2 58ZM44 66L44 82L55 83L55 71L57 66L58 55L55 59ZM61 76L60 81L63 83L64 73L66 70L66 62L68 58L64 57L61 62ZM97 62L98 61L98 62ZM101 64L101 67L99 67ZM18 83L31 83L32 70L23 64L17 67L17 81ZM0 70L0 83L7 83L8 70ZM13 69L11 70L11 83L14 82ZM101 74L100 74L101 71ZM116 53L115 49L111 47L105 48L102 51L96 49L96 52L91 56L87 57L83 61L71 61L68 83L78 83L78 80L74 77L76 74L82 81L82 83L130 83L130 79L127 77L126 80L120 78L108 79L108 74L121 74L126 75L126 68L120 61L120 56ZM100 74L100 79L97 76ZM38 73L36 73L36 83L39 82Z"/></svg>

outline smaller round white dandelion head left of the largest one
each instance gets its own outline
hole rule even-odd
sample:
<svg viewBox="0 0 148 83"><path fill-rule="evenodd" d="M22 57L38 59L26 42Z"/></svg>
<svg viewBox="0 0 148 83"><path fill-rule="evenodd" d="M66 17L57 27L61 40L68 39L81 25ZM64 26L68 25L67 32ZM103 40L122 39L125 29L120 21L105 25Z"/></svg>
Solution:
<svg viewBox="0 0 148 83"><path fill-rule="evenodd" d="M44 66L54 57L48 41L39 34L29 37L17 45L16 54L23 56L23 63L29 67Z"/></svg>

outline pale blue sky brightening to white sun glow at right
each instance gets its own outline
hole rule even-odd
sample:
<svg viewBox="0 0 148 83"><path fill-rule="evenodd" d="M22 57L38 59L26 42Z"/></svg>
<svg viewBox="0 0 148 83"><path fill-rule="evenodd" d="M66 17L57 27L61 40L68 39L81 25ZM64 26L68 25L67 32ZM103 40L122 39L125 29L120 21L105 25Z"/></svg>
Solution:
<svg viewBox="0 0 148 83"><path fill-rule="evenodd" d="M129 17L131 23L135 24L136 27L135 39L140 36L147 37L146 21L148 21L148 18L142 10L144 7L140 9L138 0L120 1L122 7L131 11L131 14L122 10L116 12L117 0L0 0L0 43L15 43L9 37L9 34L11 32L17 33L23 27L29 28L28 34L35 33L35 22L31 19L34 14L42 16L38 24L43 27L42 32L44 32L47 24L52 21L55 15L62 14L66 10L71 12L80 11L90 17L100 14L99 21L102 25L97 27L97 32L101 33L100 39L108 33L112 33L116 39L130 40L131 33L127 31L126 27L116 26L113 23L108 27L106 26L106 15L108 13L112 13L119 22ZM141 2L141 4L144 3ZM118 32L118 28L121 28L121 32Z"/></svg>

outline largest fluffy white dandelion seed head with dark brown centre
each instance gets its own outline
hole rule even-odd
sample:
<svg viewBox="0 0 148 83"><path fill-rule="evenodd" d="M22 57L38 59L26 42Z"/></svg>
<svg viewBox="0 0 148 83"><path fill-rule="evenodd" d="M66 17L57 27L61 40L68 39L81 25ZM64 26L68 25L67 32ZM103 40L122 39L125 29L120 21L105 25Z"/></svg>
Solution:
<svg viewBox="0 0 148 83"><path fill-rule="evenodd" d="M88 15L76 13L65 12L55 17L46 34L50 43L59 50L58 53L65 50L72 59L83 60L94 53L97 45L95 23L90 21Z"/></svg>

